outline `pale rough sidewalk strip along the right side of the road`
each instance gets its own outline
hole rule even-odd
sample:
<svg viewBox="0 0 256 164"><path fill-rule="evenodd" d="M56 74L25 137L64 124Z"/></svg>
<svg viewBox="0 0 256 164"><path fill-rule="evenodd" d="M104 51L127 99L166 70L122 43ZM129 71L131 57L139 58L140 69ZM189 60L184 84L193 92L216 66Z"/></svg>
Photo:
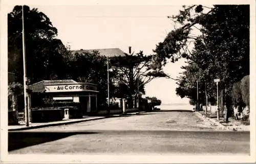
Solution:
<svg viewBox="0 0 256 164"><path fill-rule="evenodd" d="M250 131L250 125L243 125L240 120L234 120L233 118L229 118L229 122L224 122L224 118L220 118L217 120L217 116L214 115L207 115L205 116L204 111L195 112L199 117L202 119L206 119L215 123L217 126L220 127L222 130L232 130L232 131Z"/></svg>

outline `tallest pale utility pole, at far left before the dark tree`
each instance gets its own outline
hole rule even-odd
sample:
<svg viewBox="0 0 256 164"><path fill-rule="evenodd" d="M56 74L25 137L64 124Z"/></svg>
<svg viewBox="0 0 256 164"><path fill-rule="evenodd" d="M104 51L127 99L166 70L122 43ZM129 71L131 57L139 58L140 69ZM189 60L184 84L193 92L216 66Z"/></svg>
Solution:
<svg viewBox="0 0 256 164"><path fill-rule="evenodd" d="M27 88L28 88L28 78L27 78L27 67L26 67L26 45L25 45L25 29L24 29L24 10L23 10L23 6L22 6L22 48L23 48L23 82L24 82L24 111L25 111L25 122L26 122L26 126L29 126L29 111L28 111L28 93L27 93Z"/></svg>

